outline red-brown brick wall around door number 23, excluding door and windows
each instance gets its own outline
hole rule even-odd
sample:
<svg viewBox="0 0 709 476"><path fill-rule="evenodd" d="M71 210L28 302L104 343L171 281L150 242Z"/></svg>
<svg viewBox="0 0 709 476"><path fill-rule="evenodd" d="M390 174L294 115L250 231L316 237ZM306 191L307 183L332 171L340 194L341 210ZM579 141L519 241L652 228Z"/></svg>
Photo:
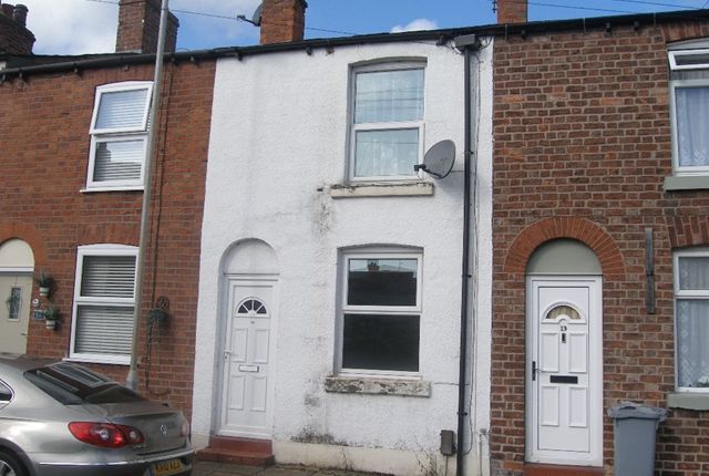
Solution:
<svg viewBox="0 0 709 476"><path fill-rule="evenodd" d="M494 43L494 474L521 474L525 447L525 267L575 238L604 273L604 461L613 474L620 400L667 406L675 385L672 249L709 246L709 190L662 192L671 174L668 41L700 23L510 35ZM645 306L645 229L655 236L657 312ZM709 474L709 414L670 410L662 475Z"/></svg>

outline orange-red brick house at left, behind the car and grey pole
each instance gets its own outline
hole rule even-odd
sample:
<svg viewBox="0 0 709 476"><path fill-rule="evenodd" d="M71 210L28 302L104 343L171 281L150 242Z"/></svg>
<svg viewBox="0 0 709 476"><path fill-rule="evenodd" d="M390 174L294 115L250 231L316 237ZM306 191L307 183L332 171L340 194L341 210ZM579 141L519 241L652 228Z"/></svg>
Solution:
<svg viewBox="0 0 709 476"><path fill-rule="evenodd" d="M2 10L13 11L4 3ZM160 1L122 2L120 13L115 54L4 50L0 284L2 299L18 303L0 324L0 350L85 362L125 381L156 48L148 37L156 38L150 29L157 27ZM0 14L0 24L8 21ZM167 44L174 51L175 18L171 25ZM146 395L189 413L215 62L206 55L168 58L160 124L152 125L160 130L138 380ZM41 271L53 279L49 297L32 284ZM168 320L148 327L147 311L158 306L168 307ZM56 330L35 312L50 307L61 315Z"/></svg>

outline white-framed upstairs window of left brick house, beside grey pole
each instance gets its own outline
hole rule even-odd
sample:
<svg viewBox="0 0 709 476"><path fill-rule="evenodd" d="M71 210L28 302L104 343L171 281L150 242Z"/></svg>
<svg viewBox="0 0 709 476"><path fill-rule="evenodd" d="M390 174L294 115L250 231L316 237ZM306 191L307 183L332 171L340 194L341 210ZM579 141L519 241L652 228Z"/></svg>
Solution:
<svg viewBox="0 0 709 476"><path fill-rule="evenodd" d="M148 81L96 87L86 190L143 188L152 92Z"/></svg>

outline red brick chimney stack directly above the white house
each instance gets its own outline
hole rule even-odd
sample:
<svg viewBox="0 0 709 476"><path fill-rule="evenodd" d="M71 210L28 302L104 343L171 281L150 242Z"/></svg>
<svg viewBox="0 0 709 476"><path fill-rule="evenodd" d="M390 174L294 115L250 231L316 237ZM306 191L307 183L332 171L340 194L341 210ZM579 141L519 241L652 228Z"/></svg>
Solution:
<svg viewBox="0 0 709 476"><path fill-rule="evenodd" d="M264 0L260 43L301 41L307 8L305 0Z"/></svg>

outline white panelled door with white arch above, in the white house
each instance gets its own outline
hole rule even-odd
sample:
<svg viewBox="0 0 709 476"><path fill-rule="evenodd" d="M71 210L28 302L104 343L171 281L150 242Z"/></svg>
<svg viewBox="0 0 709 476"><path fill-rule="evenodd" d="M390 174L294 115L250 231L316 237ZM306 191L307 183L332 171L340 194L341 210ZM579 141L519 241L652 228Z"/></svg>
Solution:
<svg viewBox="0 0 709 476"><path fill-rule="evenodd" d="M270 439L278 259L268 244L248 239L227 251L223 272L214 430L220 436Z"/></svg>

